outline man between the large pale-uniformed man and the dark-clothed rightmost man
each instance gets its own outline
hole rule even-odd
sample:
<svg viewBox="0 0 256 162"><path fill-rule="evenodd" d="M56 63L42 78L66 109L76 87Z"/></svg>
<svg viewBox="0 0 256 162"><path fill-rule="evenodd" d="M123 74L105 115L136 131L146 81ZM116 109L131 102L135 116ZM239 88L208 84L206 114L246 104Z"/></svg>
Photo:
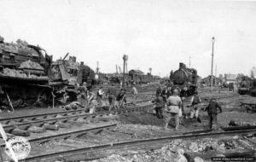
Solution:
<svg viewBox="0 0 256 162"><path fill-rule="evenodd" d="M190 101L190 119L195 118L199 123L201 123L201 119L199 118L200 103L201 97L198 95L198 92L195 91Z"/></svg>

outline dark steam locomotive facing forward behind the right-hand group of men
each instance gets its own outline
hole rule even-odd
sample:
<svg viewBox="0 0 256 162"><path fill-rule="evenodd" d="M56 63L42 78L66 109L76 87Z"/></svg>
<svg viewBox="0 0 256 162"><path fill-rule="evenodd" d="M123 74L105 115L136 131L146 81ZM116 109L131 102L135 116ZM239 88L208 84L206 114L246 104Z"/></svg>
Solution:
<svg viewBox="0 0 256 162"><path fill-rule="evenodd" d="M181 96L193 95L197 89L197 71L194 68L187 68L182 62L179 63L177 71L171 72L170 80L173 87L178 87Z"/></svg>

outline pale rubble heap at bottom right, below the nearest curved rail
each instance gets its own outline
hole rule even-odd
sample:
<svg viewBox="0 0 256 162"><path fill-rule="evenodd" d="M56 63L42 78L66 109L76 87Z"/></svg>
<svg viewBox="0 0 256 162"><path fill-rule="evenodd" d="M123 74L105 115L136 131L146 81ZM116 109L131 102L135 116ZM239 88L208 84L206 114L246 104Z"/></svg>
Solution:
<svg viewBox="0 0 256 162"><path fill-rule="evenodd" d="M196 156L189 156L189 153L200 153L200 152L207 152L207 151L217 151L218 154L216 156L224 157L226 150L228 149L235 149L241 148L237 139L212 139L212 138L205 138L201 140L197 140L195 142L191 141L183 141L181 139L174 140L170 142L168 145L157 149L157 150L148 150L145 153L139 153L133 151L132 153L128 153L128 156L120 156L117 154L113 154L105 159L98 159L94 160L94 162L105 162L105 161L124 161L124 162L139 162L139 161L174 161L174 162L187 162L191 161L191 157L194 161L204 161L201 157ZM210 152L211 153L211 152ZM188 159L189 158L189 159Z"/></svg>

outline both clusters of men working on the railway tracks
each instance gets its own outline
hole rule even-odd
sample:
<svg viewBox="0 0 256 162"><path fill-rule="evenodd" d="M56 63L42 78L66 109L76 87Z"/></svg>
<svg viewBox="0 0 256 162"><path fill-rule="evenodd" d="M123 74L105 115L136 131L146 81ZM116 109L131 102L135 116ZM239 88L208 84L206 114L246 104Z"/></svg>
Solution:
<svg viewBox="0 0 256 162"><path fill-rule="evenodd" d="M132 103L135 105L137 100L137 89L134 84L131 85L131 97ZM119 107L125 107L124 103L126 103L126 90L125 88L121 88L117 90L113 84L108 88L106 92L102 90L102 87L97 91L96 94L92 92L92 90L88 90L86 87L86 83L81 86L78 86L78 102L81 107L85 107L89 109L89 113L95 113L96 107L102 107L104 105L107 107L107 101L109 103L109 111L113 109L119 109ZM155 113L159 119L165 120L164 129L168 129L168 125L172 119L175 121L175 129L177 130L179 124L183 124L183 119L187 119L189 117L190 120L196 119L197 122L201 123L201 119L199 116L199 112L201 110L201 97L198 95L198 92L195 91L194 95L192 95L191 100L189 102L189 116L184 112L184 97L180 97L181 90L178 87L164 87L162 90L159 86L156 90L156 97L152 100L155 103ZM217 111L219 109L219 112ZM209 116L209 129L216 127L217 125L217 115L218 113L222 113L222 108L219 106L216 99L212 98L209 102L208 106L204 108L207 111Z"/></svg>

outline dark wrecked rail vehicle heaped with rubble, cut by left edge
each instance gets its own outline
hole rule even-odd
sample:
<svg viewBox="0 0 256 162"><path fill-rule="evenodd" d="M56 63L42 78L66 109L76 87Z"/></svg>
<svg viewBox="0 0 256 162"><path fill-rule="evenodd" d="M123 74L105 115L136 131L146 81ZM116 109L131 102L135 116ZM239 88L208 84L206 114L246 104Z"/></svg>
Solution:
<svg viewBox="0 0 256 162"><path fill-rule="evenodd" d="M44 49L18 39L5 43L0 39L1 105L8 105L7 95L14 107L31 104L50 91L48 68L52 57ZM4 93L3 93L4 92Z"/></svg>

